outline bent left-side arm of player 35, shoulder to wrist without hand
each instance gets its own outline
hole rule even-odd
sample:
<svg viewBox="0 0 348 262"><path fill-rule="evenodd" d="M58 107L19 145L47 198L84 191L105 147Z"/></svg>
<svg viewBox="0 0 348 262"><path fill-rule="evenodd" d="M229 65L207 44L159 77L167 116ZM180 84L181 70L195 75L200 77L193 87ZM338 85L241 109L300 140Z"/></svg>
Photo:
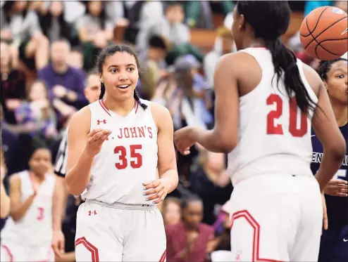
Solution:
<svg viewBox="0 0 348 262"><path fill-rule="evenodd" d="M84 107L70 119L68 129L68 162L66 185L73 195L80 195L89 183L94 155L85 150L89 133L91 111Z"/></svg>

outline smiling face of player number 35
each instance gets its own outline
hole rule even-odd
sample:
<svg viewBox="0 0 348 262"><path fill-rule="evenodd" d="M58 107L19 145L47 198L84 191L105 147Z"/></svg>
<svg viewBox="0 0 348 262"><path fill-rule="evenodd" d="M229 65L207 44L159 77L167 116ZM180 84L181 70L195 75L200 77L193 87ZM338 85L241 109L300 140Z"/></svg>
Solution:
<svg viewBox="0 0 348 262"><path fill-rule="evenodd" d="M114 100L125 101L133 98L139 79L137 60L127 52L116 52L105 58L100 74L106 93Z"/></svg>

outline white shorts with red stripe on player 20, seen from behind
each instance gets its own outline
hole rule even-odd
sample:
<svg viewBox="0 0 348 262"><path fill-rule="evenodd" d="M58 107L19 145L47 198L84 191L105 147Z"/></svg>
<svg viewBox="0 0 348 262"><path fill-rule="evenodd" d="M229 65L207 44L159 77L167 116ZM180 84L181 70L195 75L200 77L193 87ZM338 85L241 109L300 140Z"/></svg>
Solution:
<svg viewBox="0 0 348 262"><path fill-rule="evenodd" d="M230 199L233 261L318 261L323 207L313 176L260 175Z"/></svg>

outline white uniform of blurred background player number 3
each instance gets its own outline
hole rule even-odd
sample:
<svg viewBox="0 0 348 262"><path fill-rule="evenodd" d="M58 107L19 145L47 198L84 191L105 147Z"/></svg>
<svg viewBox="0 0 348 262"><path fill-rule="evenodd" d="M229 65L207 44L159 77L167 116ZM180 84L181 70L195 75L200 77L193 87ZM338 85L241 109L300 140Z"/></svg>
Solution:
<svg viewBox="0 0 348 262"><path fill-rule="evenodd" d="M28 171L20 177L21 202L34 193ZM9 217L1 231L1 261L54 261L51 250L52 238L52 197L56 176L46 174L37 196L25 215L19 221Z"/></svg>

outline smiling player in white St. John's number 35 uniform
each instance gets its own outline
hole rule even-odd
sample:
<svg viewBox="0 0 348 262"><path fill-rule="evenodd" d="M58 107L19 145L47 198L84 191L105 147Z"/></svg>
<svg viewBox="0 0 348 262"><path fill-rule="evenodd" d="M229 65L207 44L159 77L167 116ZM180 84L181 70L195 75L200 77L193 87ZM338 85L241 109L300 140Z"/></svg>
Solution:
<svg viewBox="0 0 348 262"><path fill-rule="evenodd" d="M178 185L173 122L165 107L137 96L138 68L130 47L104 49L100 100L70 120L66 183L86 199L77 211L76 261L166 260L156 204Z"/></svg>

